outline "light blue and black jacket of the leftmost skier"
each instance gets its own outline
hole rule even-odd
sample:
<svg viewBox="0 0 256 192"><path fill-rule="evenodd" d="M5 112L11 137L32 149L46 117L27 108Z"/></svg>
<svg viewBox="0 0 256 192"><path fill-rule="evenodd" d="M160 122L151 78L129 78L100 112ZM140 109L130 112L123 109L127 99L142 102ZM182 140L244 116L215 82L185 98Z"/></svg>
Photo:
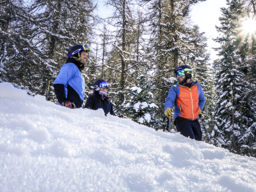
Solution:
<svg viewBox="0 0 256 192"><path fill-rule="evenodd" d="M65 101L70 101L76 105L76 108L80 108L84 103L85 92L84 76L79 69L79 66L83 64L71 58L68 61L60 68L60 72L53 83L54 91L58 104L61 105Z"/></svg>

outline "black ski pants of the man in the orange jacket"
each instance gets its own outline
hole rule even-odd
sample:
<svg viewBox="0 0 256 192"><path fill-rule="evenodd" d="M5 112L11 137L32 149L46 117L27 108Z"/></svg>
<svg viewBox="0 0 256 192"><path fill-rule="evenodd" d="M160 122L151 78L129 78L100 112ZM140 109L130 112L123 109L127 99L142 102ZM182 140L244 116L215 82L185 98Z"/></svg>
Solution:
<svg viewBox="0 0 256 192"><path fill-rule="evenodd" d="M188 120L182 117L177 117L174 121L177 131L185 137L190 137L198 141L202 140L201 126L196 120Z"/></svg>

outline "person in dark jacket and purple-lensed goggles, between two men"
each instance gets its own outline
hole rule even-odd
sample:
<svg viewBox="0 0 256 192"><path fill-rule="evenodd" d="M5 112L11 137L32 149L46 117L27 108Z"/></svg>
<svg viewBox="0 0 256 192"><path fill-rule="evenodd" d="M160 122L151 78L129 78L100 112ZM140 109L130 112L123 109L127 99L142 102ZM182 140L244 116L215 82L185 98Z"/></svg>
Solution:
<svg viewBox="0 0 256 192"><path fill-rule="evenodd" d="M93 85L93 90L94 93L87 98L84 108L93 110L101 108L105 115L108 113L115 115L113 105L108 100L108 83L104 79L98 79Z"/></svg>

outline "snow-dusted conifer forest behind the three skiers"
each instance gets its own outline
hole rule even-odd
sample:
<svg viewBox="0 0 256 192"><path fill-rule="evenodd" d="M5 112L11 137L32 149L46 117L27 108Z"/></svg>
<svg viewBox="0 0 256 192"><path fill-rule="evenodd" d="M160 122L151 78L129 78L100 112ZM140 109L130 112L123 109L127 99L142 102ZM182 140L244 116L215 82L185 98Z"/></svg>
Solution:
<svg viewBox="0 0 256 192"><path fill-rule="evenodd" d="M165 130L174 70L186 64L204 91L212 143L256 157L256 26L243 28L256 20L256 0L226 0L214 61L190 18L191 7L203 1L106 0L110 16L100 18L94 0L0 0L0 82L56 102L53 82L68 48L88 43L84 101L103 78L117 116ZM203 126L202 133L210 143Z"/></svg>

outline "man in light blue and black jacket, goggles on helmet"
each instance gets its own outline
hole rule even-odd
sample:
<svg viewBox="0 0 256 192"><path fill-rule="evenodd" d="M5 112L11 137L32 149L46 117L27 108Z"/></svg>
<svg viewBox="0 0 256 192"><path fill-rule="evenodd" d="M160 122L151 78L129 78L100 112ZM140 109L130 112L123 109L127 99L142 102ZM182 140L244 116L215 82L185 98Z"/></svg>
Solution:
<svg viewBox="0 0 256 192"><path fill-rule="evenodd" d="M68 49L68 59L60 68L53 86L58 104L67 108L81 108L84 103L85 83L81 71L86 65L90 46L74 45Z"/></svg>

